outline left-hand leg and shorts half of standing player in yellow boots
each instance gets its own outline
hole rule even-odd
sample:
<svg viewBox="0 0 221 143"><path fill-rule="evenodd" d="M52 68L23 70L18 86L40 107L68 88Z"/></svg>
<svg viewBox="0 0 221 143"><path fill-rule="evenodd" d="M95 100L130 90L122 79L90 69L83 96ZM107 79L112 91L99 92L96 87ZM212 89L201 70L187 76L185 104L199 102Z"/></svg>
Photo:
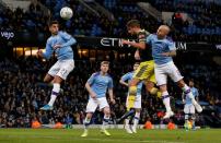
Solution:
<svg viewBox="0 0 221 143"><path fill-rule="evenodd" d="M92 118L92 116L93 116L93 112L96 110L96 108L97 108L97 100L95 100L95 99L93 99L93 98L90 98L89 99L89 103L88 103L88 105L86 105L86 117L85 117L85 119L84 119L84 121L83 121L83 124L84 124L84 132L83 132L83 134L81 135L82 138L85 138L85 136L88 136L88 134L89 134L89 126L90 126L90 123L91 123L91 118Z"/></svg>

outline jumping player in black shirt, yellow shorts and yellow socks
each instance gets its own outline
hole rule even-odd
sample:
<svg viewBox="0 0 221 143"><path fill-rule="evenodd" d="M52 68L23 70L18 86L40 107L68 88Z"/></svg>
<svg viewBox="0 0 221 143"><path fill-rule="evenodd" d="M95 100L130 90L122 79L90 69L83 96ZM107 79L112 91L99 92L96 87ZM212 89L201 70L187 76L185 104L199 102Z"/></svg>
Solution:
<svg viewBox="0 0 221 143"><path fill-rule="evenodd" d="M126 112L118 122L126 119L130 115L135 115L135 99L137 94L137 85L143 81L146 84L147 91L151 95L161 96L161 93L156 87L155 84L155 75L154 75L154 62L151 56L151 48L147 46L146 38L149 33L144 29L141 29L140 22L138 20L131 20L127 23L127 31L131 35L137 35L138 43L123 40L124 45L130 45L137 48L135 57L136 59L140 60L140 65L138 67L137 71L135 72L132 80L129 84L129 96L128 96L128 106Z"/></svg>

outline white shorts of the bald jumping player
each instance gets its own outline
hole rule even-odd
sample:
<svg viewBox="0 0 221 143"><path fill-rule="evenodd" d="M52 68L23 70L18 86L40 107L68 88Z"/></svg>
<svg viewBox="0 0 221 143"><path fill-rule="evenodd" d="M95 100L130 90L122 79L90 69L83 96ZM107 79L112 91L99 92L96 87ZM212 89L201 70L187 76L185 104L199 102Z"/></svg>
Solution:
<svg viewBox="0 0 221 143"><path fill-rule="evenodd" d="M181 72L176 68L173 61L165 64L155 64L154 68L155 80L158 85L163 85L167 83L167 75L174 81L178 82L184 76L182 76Z"/></svg>

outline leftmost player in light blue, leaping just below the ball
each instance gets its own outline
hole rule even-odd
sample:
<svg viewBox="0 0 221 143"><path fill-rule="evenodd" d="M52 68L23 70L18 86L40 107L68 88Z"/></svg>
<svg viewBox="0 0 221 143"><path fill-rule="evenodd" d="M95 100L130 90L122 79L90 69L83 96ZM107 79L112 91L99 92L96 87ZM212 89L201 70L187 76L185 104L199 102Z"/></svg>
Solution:
<svg viewBox="0 0 221 143"><path fill-rule="evenodd" d="M59 31L59 24L57 21L51 21L49 23L49 31L51 36L47 39L46 52L38 50L37 55L49 59L55 51L58 61L50 68L44 79L44 82L53 82L53 91L49 103L42 107L42 110L53 110L53 105L60 92L61 82L67 79L68 74L74 68L71 45L75 44L77 40L66 32Z"/></svg>

